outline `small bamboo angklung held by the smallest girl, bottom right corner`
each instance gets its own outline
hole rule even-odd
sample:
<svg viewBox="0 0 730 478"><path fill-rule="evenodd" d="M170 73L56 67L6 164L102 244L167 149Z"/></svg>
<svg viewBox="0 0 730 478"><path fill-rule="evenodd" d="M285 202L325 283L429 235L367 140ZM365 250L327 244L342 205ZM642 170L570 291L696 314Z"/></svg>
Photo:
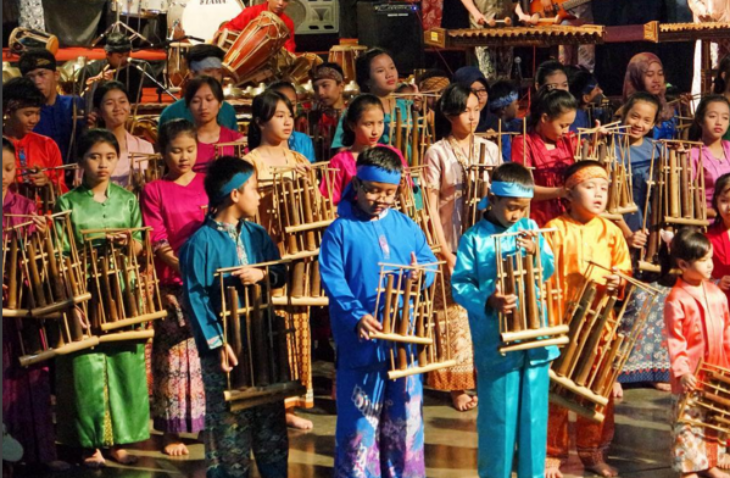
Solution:
<svg viewBox="0 0 730 478"><path fill-rule="evenodd" d="M682 396L676 422L730 434L730 370L700 359L695 377L697 386ZM706 412L705 421L686 418L689 407L702 408Z"/></svg>

